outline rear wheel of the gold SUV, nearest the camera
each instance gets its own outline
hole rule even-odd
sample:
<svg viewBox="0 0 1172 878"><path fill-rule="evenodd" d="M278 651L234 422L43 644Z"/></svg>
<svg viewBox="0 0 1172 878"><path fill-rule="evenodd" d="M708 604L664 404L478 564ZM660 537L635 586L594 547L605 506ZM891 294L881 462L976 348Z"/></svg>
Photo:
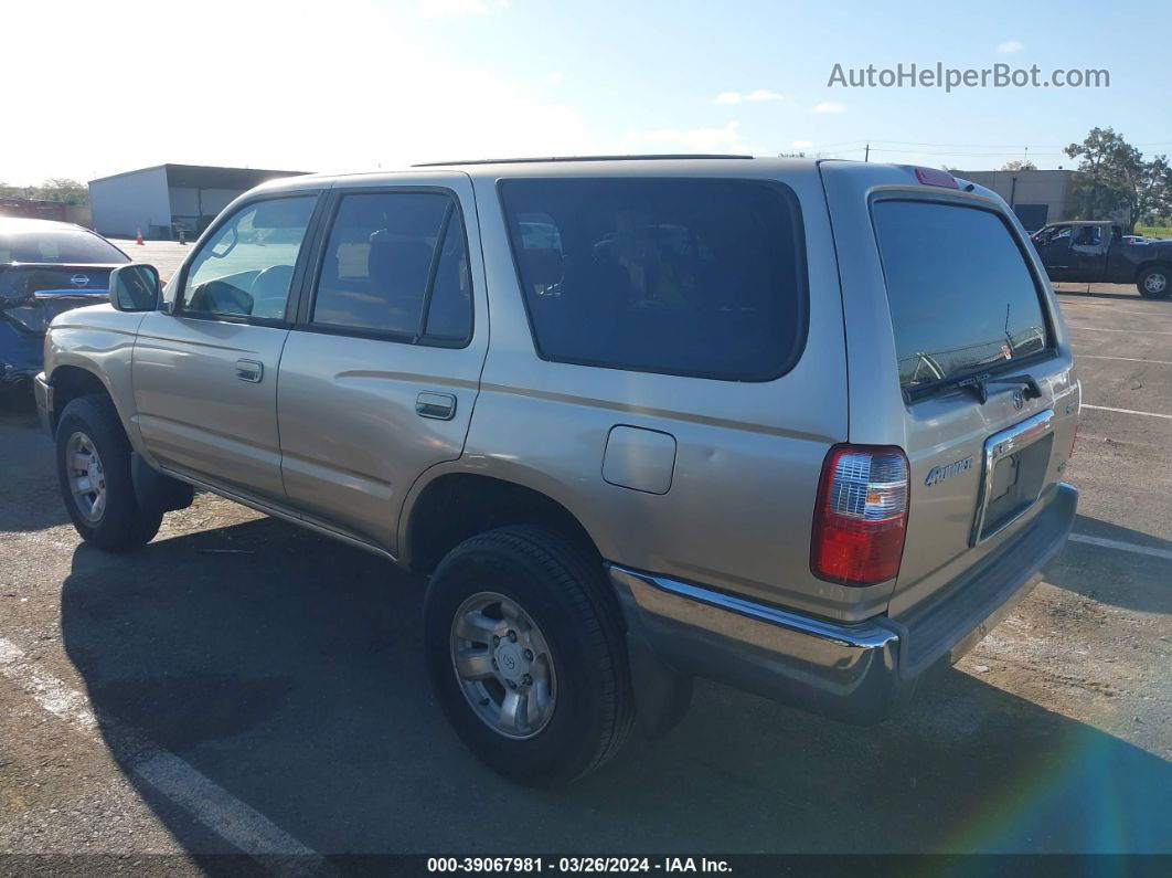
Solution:
<svg viewBox="0 0 1172 878"><path fill-rule="evenodd" d="M539 528L489 531L443 559L423 613L440 706L499 774L566 783L622 746L634 699L597 557Z"/></svg>

